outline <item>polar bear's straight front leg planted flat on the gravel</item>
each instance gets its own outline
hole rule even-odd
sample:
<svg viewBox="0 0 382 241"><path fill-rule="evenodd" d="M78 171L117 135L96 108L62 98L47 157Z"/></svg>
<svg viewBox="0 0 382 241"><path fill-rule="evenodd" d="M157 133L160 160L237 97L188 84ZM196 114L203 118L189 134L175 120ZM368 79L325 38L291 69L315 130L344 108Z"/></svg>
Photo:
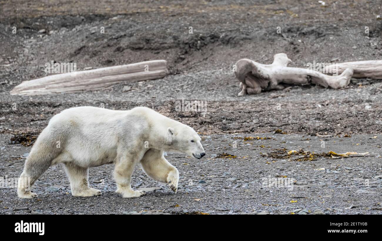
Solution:
<svg viewBox="0 0 382 241"><path fill-rule="evenodd" d="M129 158L121 158L115 165L114 178L117 182L117 193L121 193L124 198L140 197L145 191L134 191L131 188L131 175L133 175L136 162Z"/></svg>

